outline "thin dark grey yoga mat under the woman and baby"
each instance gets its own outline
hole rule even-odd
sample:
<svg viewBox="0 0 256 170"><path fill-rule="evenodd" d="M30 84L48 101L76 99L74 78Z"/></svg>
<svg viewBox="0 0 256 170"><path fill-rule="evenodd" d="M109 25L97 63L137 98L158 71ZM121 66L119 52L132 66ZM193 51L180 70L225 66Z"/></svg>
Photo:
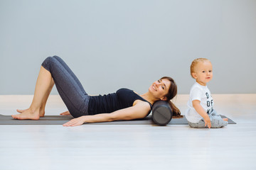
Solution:
<svg viewBox="0 0 256 170"><path fill-rule="evenodd" d="M226 118L221 115L222 118ZM16 120L11 115L0 114L0 125L62 125L73 117L70 115L45 115L39 120ZM94 125L155 125L151 116L147 116L143 119L136 120L120 120L106 123L90 123ZM236 124L233 120L228 118L228 124ZM172 118L171 122L167 125L188 125L186 118Z"/></svg>

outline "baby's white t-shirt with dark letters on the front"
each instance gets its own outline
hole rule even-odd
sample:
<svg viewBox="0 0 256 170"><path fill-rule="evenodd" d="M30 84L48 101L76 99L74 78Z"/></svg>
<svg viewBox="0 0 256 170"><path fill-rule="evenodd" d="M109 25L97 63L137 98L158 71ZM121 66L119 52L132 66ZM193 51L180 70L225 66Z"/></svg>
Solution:
<svg viewBox="0 0 256 170"><path fill-rule="evenodd" d="M197 82L191 87L188 100L188 110L186 111L186 119L191 123L198 123L202 116L199 115L195 108L193 108L192 101L198 100L201 101L200 105L203 107L203 110L209 115L213 111L213 98L210 95L210 90L207 86L202 86Z"/></svg>

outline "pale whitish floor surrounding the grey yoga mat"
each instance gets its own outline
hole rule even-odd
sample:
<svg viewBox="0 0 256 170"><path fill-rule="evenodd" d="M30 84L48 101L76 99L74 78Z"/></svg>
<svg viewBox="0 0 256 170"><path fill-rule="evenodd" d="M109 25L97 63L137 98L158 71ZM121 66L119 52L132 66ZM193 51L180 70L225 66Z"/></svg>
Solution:
<svg viewBox="0 0 256 170"><path fill-rule="evenodd" d="M0 96L0 114L26 108L32 96ZM236 125L0 125L0 169L256 169L256 94L213 95ZM176 105L184 113L188 95ZM50 96L47 115L65 111Z"/></svg>

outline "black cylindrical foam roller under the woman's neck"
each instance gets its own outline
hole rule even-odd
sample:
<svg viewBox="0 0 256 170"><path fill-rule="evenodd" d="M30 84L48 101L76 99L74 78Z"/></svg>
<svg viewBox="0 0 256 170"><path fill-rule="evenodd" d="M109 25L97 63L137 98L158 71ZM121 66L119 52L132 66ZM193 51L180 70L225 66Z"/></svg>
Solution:
<svg viewBox="0 0 256 170"><path fill-rule="evenodd" d="M172 111L167 101L156 101L152 108L152 119L157 125L167 125L172 118Z"/></svg>

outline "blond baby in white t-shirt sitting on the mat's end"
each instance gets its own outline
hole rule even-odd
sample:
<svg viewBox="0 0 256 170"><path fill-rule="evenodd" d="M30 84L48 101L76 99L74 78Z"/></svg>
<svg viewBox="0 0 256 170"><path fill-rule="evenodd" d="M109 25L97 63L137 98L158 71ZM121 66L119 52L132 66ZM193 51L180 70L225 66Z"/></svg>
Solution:
<svg viewBox="0 0 256 170"><path fill-rule="evenodd" d="M198 58L191 63L191 76L196 83L191 87L186 119L191 128L221 128L228 125L228 118L221 118L213 110L213 98L206 84L213 78L210 60Z"/></svg>

